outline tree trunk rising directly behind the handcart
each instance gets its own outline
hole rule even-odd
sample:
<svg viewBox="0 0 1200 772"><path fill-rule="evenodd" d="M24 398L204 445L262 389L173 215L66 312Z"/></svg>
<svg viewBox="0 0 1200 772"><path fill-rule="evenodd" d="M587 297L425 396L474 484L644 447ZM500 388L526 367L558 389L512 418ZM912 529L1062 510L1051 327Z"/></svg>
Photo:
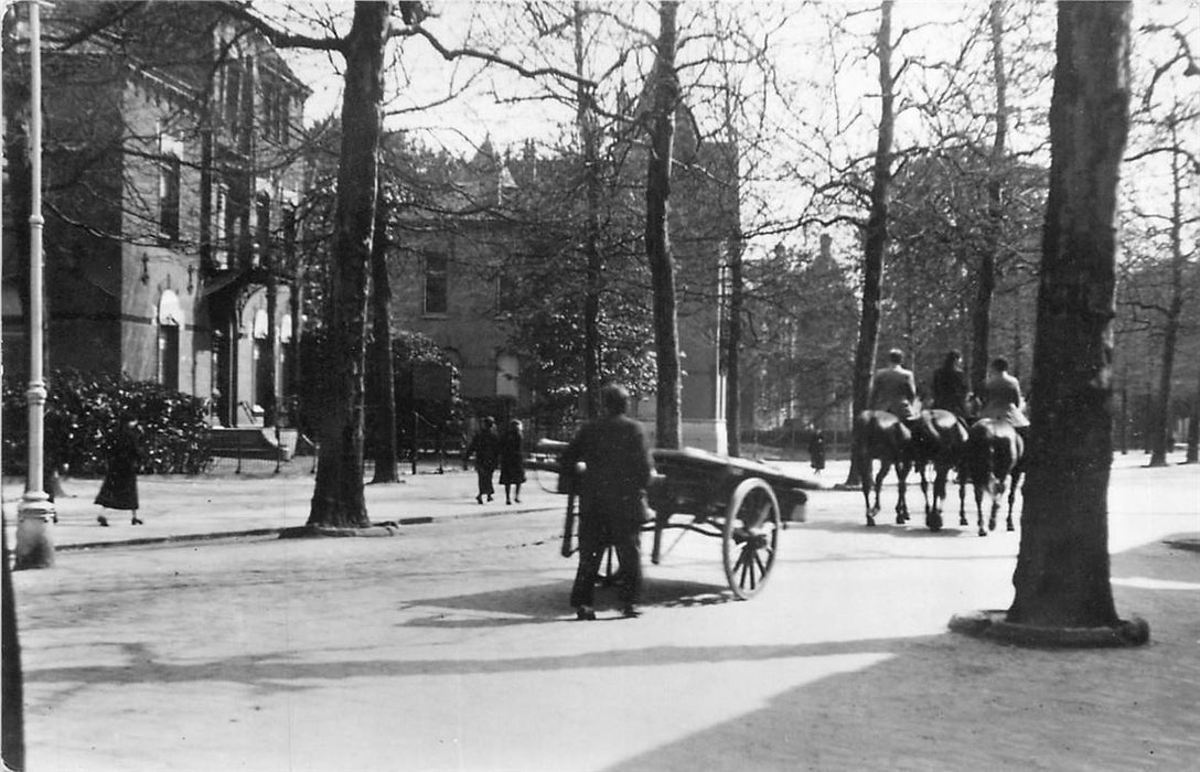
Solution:
<svg viewBox="0 0 1200 772"><path fill-rule="evenodd" d="M656 444L678 448L679 423L679 328L676 318L674 263L667 222L671 197L671 156L679 82L674 71L676 8L673 0L659 5L658 56L654 64L654 124L646 173L646 257L654 285L654 352L658 360Z"/></svg>

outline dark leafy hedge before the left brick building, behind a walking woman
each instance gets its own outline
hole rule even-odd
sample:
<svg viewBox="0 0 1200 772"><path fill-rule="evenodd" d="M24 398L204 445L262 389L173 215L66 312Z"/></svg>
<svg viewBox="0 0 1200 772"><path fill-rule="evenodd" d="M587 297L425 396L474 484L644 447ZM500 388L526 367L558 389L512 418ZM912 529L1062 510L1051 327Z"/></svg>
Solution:
<svg viewBox="0 0 1200 772"><path fill-rule="evenodd" d="M107 448L122 413L142 429L144 474L197 474L211 460L203 400L160 383L77 371L55 371L46 401L46 465L79 477L102 475ZM26 469L24 384L4 383L4 471Z"/></svg>

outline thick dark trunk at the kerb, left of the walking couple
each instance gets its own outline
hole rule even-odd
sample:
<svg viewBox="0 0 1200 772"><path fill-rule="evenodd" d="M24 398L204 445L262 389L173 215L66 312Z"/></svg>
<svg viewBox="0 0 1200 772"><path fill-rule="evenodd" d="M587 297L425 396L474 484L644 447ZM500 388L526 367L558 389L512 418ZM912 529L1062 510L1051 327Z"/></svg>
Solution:
<svg viewBox="0 0 1200 772"><path fill-rule="evenodd" d="M378 175L386 2L358 2L346 41L342 148L329 301L329 369L334 396L320 425L313 526L368 526L362 493L362 412L367 274Z"/></svg>

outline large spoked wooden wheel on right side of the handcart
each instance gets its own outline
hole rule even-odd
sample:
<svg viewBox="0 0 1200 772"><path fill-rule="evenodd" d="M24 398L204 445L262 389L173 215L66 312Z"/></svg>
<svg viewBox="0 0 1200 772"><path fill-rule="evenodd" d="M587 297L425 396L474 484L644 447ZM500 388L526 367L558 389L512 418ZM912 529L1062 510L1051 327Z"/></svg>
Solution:
<svg viewBox="0 0 1200 772"><path fill-rule="evenodd" d="M730 590L745 600L767 581L782 529L775 491L758 478L742 480L725 510L721 557Z"/></svg>

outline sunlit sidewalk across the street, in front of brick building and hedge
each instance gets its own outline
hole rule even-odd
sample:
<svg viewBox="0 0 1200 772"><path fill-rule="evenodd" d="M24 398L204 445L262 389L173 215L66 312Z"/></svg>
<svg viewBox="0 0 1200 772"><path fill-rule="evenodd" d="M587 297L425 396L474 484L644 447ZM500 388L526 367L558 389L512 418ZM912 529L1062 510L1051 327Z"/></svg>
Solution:
<svg viewBox="0 0 1200 772"><path fill-rule="evenodd" d="M308 520L316 477L310 459L283 465L247 461L241 473L222 460L212 474L143 475L138 478L142 526L130 525L130 513L103 509L94 502L98 478L62 480L66 496L54 504L59 521L49 526L55 550L79 550L109 545L156 544L278 533L304 526ZM400 481L366 485L367 513L372 522L419 525L431 520L494 516L540 510L562 510L566 498L553 492L556 475L529 471L521 487L521 502L504 504L504 487L496 485L496 501L475 503L475 473L446 462L443 474L436 461L422 461L418 473L402 465ZM368 473L365 478L371 480ZM16 545L17 508L24 480L4 479L4 522L10 549ZM109 527L96 521L103 514Z"/></svg>

